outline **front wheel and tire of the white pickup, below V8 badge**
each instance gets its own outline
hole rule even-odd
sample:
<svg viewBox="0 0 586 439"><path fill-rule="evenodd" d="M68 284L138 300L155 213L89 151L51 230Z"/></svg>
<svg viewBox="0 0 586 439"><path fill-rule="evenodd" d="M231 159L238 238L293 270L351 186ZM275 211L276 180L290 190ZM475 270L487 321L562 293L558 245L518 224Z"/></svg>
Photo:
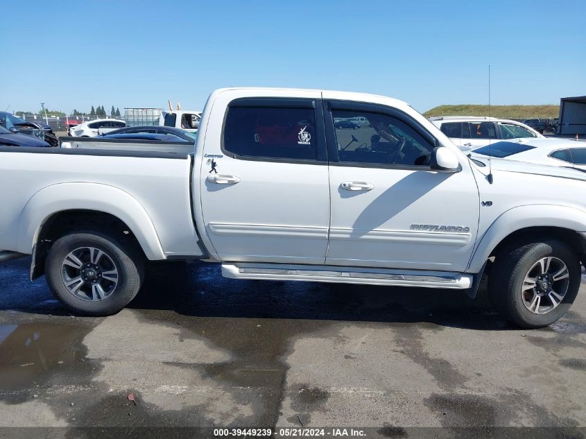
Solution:
<svg viewBox="0 0 586 439"><path fill-rule="evenodd" d="M549 267L546 277L543 274L545 266ZM563 266L566 267L567 277L566 272L562 271ZM545 327L562 317L571 307L580 289L581 277L578 255L561 241L510 246L499 252L494 260L488 279L490 300L501 316L519 327ZM559 280L553 280L556 278ZM532 284L535 285L533 288ZM546 287L546 284L549 286ZM551 291L555 295L551 295Z"/></svg>

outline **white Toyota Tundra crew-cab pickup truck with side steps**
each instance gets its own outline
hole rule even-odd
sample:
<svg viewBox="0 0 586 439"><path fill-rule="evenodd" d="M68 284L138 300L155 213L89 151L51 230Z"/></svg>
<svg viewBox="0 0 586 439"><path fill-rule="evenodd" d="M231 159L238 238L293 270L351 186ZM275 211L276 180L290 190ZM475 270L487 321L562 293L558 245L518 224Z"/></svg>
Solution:
<svg viewBox="0 0 586 439"><path fill-rule="evenodd" d="M368 124L334 128L353 117ZM32 254L31 277L85 315L125 307L147 260L202 259L239 279L472 297L487 268L497 310L542 327L586 262L585 173L491 169L384 96L220 89L193 155L1 147L0 187L0 249Z"/></svg>

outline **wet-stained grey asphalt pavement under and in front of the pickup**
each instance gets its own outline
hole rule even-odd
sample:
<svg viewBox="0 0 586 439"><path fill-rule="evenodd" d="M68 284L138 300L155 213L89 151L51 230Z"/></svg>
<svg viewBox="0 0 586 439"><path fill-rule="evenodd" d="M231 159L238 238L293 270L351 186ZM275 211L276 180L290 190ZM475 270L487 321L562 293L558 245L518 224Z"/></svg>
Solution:
<svg viewBox="0 0 586 439"><path fill-rule="evenodd" d="M44 278L29 282L28 264L0 263L0 437L37 431L14 427L68 438L114 427L586 433L584 282L559 322L521 330L492 311L485 286L473 301L159 264L127 309L81 318Z"/></svg>

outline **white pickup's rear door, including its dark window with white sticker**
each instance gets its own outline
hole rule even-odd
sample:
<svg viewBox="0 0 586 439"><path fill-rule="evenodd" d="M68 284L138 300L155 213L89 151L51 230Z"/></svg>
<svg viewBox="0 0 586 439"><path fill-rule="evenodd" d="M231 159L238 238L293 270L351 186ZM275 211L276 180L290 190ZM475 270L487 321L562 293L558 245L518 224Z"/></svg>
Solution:
<svg viewBox="0 0 586 439"><path fill-rule="evenodd" d="M320 94L242 94L216 98L203 134L209 242L223 261L323 264L329 179Z"/></svg>

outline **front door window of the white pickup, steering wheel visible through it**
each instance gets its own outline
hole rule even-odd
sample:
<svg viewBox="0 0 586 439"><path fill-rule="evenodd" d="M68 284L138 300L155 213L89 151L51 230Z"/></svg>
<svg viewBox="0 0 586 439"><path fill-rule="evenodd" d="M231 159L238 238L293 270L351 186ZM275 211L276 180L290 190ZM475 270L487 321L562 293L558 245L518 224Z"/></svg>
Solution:
<svg viewBox="0 0 586 439"><path fill-rule="evenodd" d="M431 150L422 135L386 114L334 110L334 128L341 162L429 166ZM347 129L344 121L363 117L368 125Z"/></svg>

